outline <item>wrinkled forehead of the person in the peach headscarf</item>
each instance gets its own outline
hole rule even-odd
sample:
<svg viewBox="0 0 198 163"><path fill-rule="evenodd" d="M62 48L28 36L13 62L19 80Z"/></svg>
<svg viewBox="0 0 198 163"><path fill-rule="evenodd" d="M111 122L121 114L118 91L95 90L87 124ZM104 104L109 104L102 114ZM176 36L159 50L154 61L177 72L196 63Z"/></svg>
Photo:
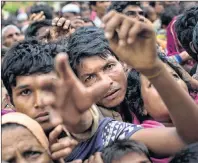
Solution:
<svg viewBox="0 0 198 163"><path fill-rule="evenodd" d="M5 128L2 131L3 159L14 155L16 150L23 152L34 147L41 147L41 145L27 128L17 126L15 128Z"/></svg>

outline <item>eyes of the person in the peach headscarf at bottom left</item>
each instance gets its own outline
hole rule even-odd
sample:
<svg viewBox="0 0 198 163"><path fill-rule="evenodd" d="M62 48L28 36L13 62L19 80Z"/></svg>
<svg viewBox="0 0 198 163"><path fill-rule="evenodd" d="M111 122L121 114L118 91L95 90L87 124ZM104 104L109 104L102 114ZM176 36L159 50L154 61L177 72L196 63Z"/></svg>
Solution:
<svg viewBox="0 0 198 163"><path fill-rule="evenodd" d="M23 153L23 158L26 160L36 160L41 155L42 155L42 152L40 152L40 151L26 151ZM16 158L11 158L11 159L7 160L6 162L15 163Z"/></svg>

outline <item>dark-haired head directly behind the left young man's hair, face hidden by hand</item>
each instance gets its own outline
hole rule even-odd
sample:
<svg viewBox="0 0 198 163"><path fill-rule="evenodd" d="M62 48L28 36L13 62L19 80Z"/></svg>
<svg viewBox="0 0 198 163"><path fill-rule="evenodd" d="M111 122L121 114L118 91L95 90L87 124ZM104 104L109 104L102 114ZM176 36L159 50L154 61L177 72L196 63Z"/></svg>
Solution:
<svg viewBox="0 0 198 163"><path fill-rule="evenodd" d="M28 26L25 32L25 38L31 38L35 37L36 39L39 40L45 40L47 38L46 35L43 34L46 33L46 30L49 29L52 26L52 21L51 20L41 20L41 21L35 21L32 24Z"/></svg>

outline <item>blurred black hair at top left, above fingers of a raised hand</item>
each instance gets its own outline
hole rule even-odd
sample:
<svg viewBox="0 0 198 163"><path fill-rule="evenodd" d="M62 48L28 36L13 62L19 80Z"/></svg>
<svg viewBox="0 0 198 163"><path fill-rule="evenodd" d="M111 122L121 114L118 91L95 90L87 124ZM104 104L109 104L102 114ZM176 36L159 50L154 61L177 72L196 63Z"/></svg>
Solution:
<svg viewBox="0 0 198 163"><path fill-rule="evenodd" d="M33 13L40 13L41 11L44 12L46 19L52 19L53 18L53 9L49 5L34 5L30 8L29 15Z"/></svg>

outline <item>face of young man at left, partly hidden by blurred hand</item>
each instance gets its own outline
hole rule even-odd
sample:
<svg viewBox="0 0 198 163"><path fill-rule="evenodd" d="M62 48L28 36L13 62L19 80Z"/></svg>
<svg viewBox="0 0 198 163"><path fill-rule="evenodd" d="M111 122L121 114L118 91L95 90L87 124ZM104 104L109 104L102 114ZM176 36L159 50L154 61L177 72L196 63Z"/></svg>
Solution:
<svg viewBox="0 0 198 163"><path fill-rule="evenodd" d="M48 132L61 124L62 119L51 106L43 104L47 94L36 81L45 77L49 80L56 80L57 78L54 72L17 76L16 86L12 87L12 98L17 112L24 113L36 120L44 131Z"/></svg>

